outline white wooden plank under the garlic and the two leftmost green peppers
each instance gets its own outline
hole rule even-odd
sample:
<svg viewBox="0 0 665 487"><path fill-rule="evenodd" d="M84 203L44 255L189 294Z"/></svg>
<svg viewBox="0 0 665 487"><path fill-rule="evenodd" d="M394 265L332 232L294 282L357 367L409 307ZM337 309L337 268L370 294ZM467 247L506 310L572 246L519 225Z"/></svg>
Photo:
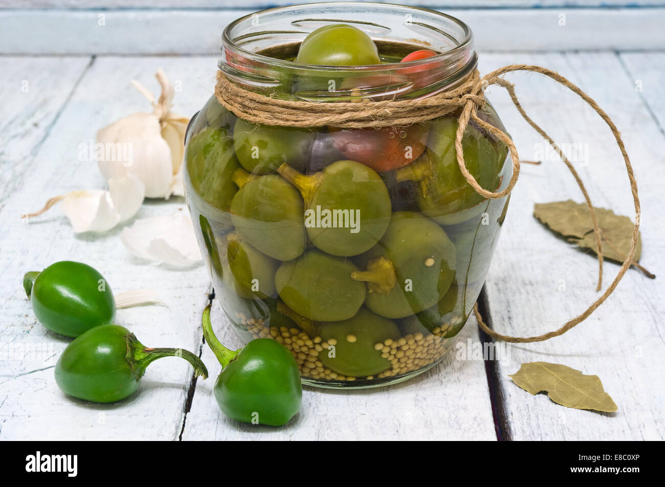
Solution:
<svg viewBox="0 0 665 487"><path fill-rule="evenodd" d="M49 72L53 86L72 86L68 60L33 60L31 72L11 72L5 78L31 79ZM82 59L82 65L88 62ZM198 351L199 312L207 302L209 282L203 266L173 270L131 256L120 243L120 228L103 235L74 235L57 208L30 225L19 215L39 207L47 197L73 189L102 187L94 163L79 161L77 147L88 143L98 128L121 116L150 110L150 104L130 86L131 78L157 90L153 74L163 67L182 88L176 110L193 114L209 97L215 60L187 58L97 58L57 116L49 136L34 153L21 160L25 177L0 210L0 437L3 439L177 439L191 367L179 359L157 361L148 369L138 394L113 405L93 405L65 397L53 379L53 366L69 340L41 326L21 287L23 273L57 260L84 260L98 268L116 292L152 288L168 307L146 306L119 310L116 321L136 333L148 346L180 346ZM80 71L81 66L76 66ZM35 87L37 88L37 86ZM57 92L44 89L45 98ZM27 114L28 120L31 120ZM45 116L46 117L46 116ZM53 116L52 116L53 118ZM18 121L17 121L18 123ZM24 124L25 125L25 124ZM29 126L25 128L29 130ZM33 138L23 136L30 153ZM187 211L184 199L148 201L138 217ZM128 223L130 225L132 221Z"/></svg>

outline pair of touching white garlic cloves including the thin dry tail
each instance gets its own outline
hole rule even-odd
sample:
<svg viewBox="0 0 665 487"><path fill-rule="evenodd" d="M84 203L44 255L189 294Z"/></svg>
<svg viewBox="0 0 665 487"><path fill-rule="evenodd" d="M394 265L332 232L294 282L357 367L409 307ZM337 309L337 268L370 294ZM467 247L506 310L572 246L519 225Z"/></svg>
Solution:
<svg viewBox="0 0 665 487"><path fill-rule="evenodd" d="M37 217L62 201L74 233L106 232L136 215L145 195L143 183L133 174L109 179L108 187L108 191L83 189L53 197L41 210L21 217Z"/></svg>

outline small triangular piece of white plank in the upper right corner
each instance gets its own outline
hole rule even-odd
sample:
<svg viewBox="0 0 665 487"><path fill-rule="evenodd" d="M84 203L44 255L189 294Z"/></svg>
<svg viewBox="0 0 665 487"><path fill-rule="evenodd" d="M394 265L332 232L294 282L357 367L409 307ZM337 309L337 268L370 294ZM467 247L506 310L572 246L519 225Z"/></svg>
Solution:
<svg viewBox="0 0 665 487"><path fill-rule="evenodd" d="M633 79L635 92L660 126L660 131L665 133L665 53L621 52L619 58Z"/></svg>

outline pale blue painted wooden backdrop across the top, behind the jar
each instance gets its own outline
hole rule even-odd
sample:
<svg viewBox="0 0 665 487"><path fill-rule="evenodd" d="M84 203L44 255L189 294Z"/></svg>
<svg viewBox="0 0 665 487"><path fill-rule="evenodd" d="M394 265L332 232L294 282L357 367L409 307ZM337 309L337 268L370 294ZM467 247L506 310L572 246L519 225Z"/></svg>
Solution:
<svg viewBox="0 0 665 487"><path fill-rule="evenodd" d="M0 0L0 54L214 54L223 27L287 0ZM662 50L665 0L402 0L446 11L479 50Z"/></svg>

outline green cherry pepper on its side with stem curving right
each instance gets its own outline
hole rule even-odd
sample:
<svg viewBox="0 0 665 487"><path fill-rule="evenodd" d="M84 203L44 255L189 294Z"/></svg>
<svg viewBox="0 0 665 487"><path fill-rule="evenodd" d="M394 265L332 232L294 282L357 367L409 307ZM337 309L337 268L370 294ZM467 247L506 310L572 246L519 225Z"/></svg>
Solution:
<svg viewBox="0 0 665 487"><path fill-rule="evenodd" d="M55 365L55 381L66 394L95 403L114 403L138 389L146 367L163 357L182 357L207 379L205 364L182 348L148 348L129 330L103 325L72 343Z"/></svg>

